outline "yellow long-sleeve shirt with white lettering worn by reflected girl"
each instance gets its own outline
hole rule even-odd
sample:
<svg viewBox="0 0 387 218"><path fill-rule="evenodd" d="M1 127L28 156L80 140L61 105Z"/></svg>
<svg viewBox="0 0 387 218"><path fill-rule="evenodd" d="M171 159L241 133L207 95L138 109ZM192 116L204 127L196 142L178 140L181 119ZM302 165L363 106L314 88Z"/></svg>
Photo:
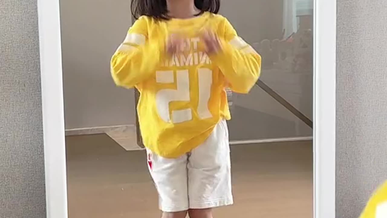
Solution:
<svg viewBox="0 0 387 218"><path fill-rule="evenodd" d="M222 52L209 57L203 29L219 37ZM166 40L184 37L181 53L168 57ZM221 119L230 119L226 81L247 93L260 74L261 57L237 36L226 18L204 13L192 19L159 21L142 16L111 59L118 86L140 91L137 111L144 145L175 158L202 144Z"/></svg>

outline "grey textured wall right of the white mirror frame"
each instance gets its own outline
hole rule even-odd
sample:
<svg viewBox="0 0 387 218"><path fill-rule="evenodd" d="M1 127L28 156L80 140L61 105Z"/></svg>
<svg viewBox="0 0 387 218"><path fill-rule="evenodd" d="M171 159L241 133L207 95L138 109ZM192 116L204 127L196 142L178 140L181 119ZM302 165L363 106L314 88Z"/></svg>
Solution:
<svg viewBox="0 0 387 218"><path fill-rule="evenodd" d="M385 0L337 0L337 218L358 217L387 179L386 12Z"/></svg>

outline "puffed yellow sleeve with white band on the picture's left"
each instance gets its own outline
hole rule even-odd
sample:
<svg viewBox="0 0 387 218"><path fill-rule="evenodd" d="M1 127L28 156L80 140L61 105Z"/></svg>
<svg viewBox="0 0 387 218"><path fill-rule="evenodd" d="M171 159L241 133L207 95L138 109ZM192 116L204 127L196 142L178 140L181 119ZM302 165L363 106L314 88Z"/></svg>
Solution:
<svg viewBox="0 0 387 218"><path fill-rule="evenodd" d="M149 22L140 17L128 30L123 43L111 58L111 76L116 85L133 88L147 80L160 64L162 40L149 40Z"/></svg>

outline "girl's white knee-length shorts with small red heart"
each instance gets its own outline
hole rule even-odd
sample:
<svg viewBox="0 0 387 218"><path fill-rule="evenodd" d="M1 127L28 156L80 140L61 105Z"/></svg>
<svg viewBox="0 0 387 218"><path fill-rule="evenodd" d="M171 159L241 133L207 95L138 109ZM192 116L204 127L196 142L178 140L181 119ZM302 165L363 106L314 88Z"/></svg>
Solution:
<svg viewBox="0 0 387 218"><path fill-rule="evenodd" d="M231 162L226 121L191 152L167 159L147 150L148 168L164 212L233 204Z"/></svg>

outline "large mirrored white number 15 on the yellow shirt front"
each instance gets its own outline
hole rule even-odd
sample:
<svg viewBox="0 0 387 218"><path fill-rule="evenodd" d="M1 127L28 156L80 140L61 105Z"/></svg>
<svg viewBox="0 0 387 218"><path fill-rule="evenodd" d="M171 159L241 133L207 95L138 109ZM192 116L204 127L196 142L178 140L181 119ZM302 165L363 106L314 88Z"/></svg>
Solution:
<svg viewBox="0 0 387 218"><path fill-rule="evenodd" d="M198 70L199 105L197 112L200 119L211 118L212 114L208 109L208 101L211 96L212 71L208 68ZM173 71L156 71L157 83L174 83ZM162 89L156 93L156 107L161 119L168 123L183 123L192 119L192 109L171 111L169 103L173 101L187 101L190 99L190 80L188 70L176 71L176 89Z"/></svg>

